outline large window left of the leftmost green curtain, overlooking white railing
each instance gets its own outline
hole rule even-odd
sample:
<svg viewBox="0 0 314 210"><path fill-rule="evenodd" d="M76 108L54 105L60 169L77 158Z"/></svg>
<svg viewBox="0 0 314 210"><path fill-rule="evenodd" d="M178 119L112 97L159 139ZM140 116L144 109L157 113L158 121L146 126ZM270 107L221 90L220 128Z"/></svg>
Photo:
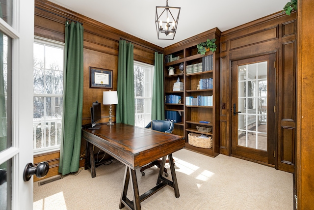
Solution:
<svg viewBox="0 0 314 210"><path fill-rule="evenodd" d="M63 112L64 44L34 41L34 153L60 149Z"/></svg>

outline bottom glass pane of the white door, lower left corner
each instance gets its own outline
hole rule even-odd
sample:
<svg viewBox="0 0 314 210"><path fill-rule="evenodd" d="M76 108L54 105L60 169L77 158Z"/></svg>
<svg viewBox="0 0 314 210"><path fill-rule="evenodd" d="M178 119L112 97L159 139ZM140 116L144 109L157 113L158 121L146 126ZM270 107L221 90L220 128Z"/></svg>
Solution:
<svg viewBox="0 0 314 210"><path fill-rule="evenodd" d="M12 160L0 165L0 209L11 209Z"/></svg>

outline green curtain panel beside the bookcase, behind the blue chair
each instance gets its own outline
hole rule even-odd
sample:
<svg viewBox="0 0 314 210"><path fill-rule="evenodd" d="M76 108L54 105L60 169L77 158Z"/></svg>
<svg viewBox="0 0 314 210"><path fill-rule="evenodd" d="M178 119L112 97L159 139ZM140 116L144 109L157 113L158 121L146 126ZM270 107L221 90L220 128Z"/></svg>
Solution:
<svg viewBox="0 0 314 210"><path fill-rule="evenodd" d="M152 120L165 120L163 94L163 54L158 54L157 52L155 52Z"/></svg>

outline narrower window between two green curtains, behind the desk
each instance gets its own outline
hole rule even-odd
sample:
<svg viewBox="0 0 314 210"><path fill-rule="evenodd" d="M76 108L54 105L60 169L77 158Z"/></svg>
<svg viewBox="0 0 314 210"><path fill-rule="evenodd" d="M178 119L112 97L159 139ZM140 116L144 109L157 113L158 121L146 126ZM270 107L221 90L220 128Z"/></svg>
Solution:
<svg viewBox="0 0 314 210"><path fill-rule="evenodd" d="M154 66L134 61L135 126L151 121Z"/></svg>

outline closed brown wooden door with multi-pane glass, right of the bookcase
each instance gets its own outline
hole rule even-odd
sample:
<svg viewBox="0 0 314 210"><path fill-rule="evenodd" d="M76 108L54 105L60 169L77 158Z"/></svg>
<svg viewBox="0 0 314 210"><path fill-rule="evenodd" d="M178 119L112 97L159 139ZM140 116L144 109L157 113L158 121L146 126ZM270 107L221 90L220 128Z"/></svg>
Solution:
<svg viewBox="0 0 314 210"><path fill-rule="evenodd" d="M276 55L232 62L232 155L275 165Z"/></svg>

